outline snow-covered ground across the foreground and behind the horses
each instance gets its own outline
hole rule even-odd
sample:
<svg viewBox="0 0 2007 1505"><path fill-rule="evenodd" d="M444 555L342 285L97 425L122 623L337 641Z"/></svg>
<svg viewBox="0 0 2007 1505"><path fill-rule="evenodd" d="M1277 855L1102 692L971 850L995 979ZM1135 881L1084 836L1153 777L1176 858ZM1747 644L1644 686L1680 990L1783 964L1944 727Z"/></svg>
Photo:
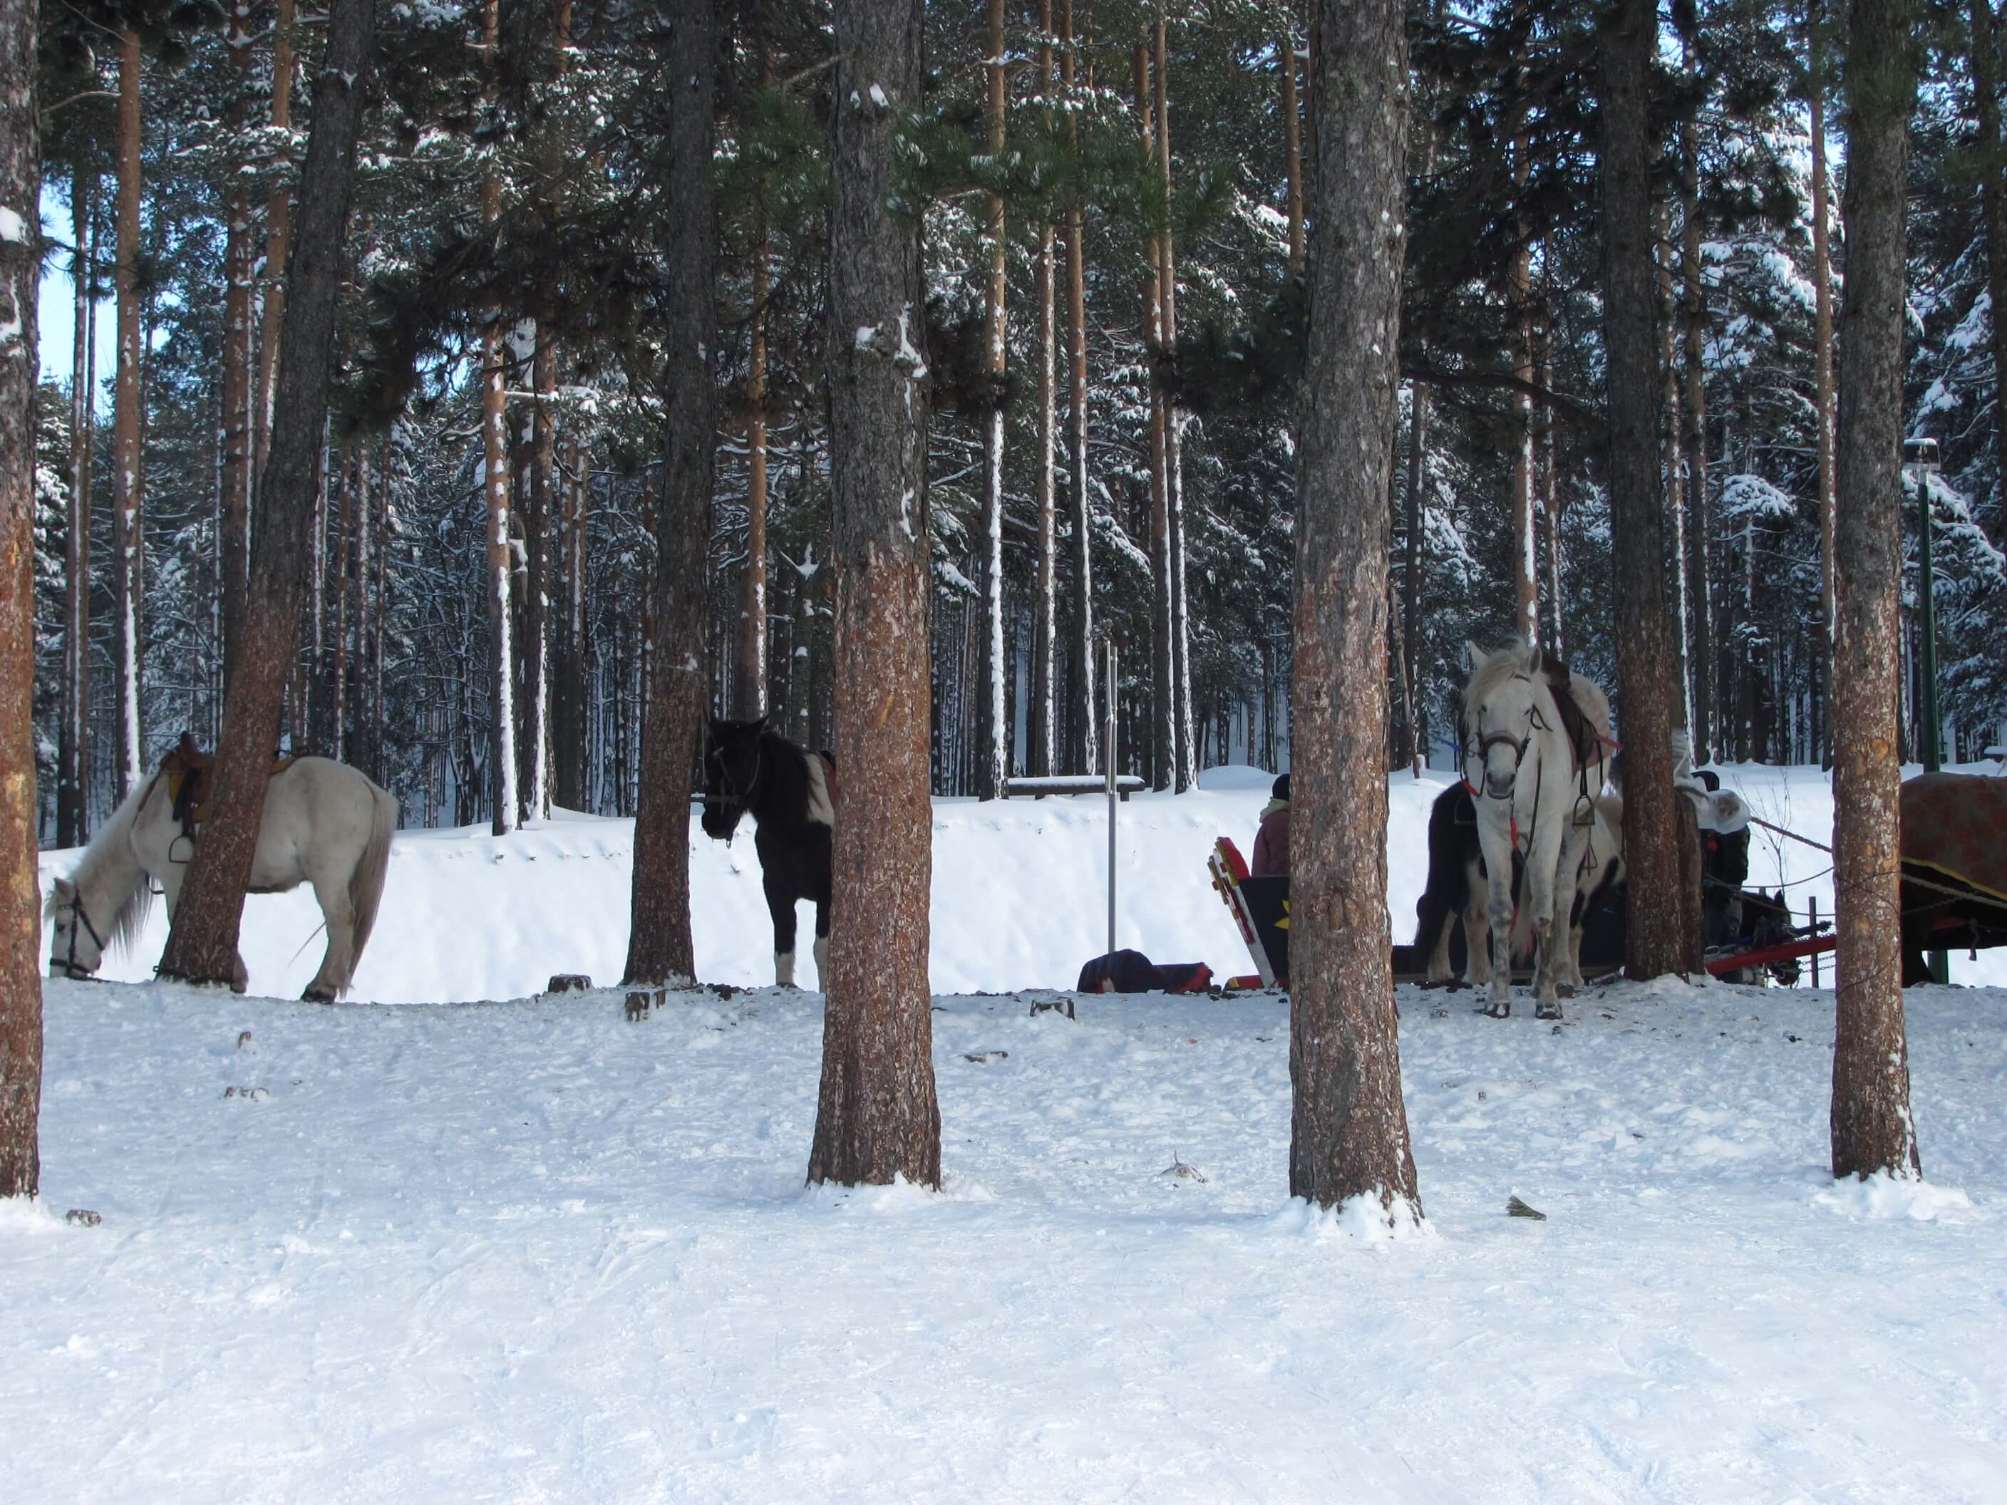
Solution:
<svg viewBox="0 0 2007 1505"><path fill-rule="evenodd" d="M1730 783L1824 839L1816 775ZM1264 791L1124 807L1124 943L1246 965L1200 863ZM1282 999L1030 1015L1106 943L1100 805L941 803L947 1188L803 1190L817 993L520 999L616 975L628 841L399 839L359 993L518 1001L48 985L0 1501L2007 1499L2007 991L1907 995L1929 1182L1834 1186L1826 991L1403 989L1387 1242L1286 1198ZM696 863L700 971L769 981L749 841Z"/></svg>

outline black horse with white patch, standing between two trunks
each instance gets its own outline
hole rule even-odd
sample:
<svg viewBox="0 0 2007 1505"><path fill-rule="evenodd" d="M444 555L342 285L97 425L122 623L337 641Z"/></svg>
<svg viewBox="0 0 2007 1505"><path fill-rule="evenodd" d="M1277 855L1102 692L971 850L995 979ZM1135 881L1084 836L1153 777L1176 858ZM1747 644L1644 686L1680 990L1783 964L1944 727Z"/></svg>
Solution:
<svg viewBox="0 0 2007 1505"><path fill-rule="evenodd" d="M704 835L731 841L753 815L767 909L773 913L773 973L795 985L795 903L815 901L815 977L827 983L829 837L837 819L835 759L795 746L759 720L712 720L704 742Z"/></svg>

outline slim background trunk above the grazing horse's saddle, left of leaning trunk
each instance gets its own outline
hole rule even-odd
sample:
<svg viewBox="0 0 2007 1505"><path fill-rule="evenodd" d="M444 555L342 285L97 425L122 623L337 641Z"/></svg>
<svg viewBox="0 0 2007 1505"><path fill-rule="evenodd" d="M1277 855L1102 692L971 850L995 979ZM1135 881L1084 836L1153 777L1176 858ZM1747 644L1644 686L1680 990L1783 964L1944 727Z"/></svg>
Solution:
<svg viewBox="0 0 2007 1505"><path fill-rule="evenodd" d="M251 285L257 237L251 227L249 167L243 150L251 92L251 0L231 0L227 50L237 82L227 112L229 193L225 217L223 291L223 682L237 666L245 586L251 578Z"/></svg>

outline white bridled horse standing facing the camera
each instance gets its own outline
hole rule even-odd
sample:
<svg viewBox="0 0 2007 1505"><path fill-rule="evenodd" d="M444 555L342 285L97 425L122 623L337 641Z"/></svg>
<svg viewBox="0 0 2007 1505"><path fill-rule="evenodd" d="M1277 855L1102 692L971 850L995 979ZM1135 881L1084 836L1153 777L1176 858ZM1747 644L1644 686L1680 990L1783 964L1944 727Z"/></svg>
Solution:
<svg viewBox="0 0 2007 1505"><path fill-rule="evenodd" d="M1557 985L1567 973L1563 951L1571 947L1555 945L1555 931L1569 925L1584 849L1596 827L1596 797L1614 746L1610 702L1590 680L1545 660L1539 648L1517 642L1495 654L1475 644L1465 648L1473 672L1463 690L1463 781L1477 805L1491 929L1485 1013L1499 1019L1511 1013L1511 937L1519 919L1513 857L1519 857L1525 867L1521 923L1539 947L1533 1013L1559 1019ZM1557 686L1565 686L1565 694L1557 694Z"/></svg>

